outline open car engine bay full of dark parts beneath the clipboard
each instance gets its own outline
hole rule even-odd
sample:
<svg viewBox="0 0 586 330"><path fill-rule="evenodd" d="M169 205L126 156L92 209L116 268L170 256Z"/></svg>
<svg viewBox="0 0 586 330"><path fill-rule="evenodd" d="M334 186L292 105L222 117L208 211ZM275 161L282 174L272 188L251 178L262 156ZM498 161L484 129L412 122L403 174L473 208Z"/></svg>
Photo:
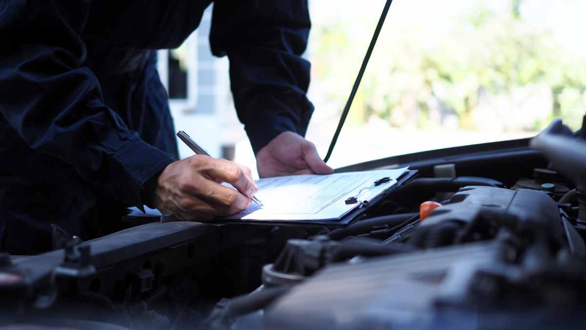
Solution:
<svg viewBox="0 0 586 330"><path fill-rule="evenodd" d="M586 123L586 120L585 120ZM586 129L339 171L413 180L342 228L151 222L2 255L2 318L83 329L582 328Z"/></svg>

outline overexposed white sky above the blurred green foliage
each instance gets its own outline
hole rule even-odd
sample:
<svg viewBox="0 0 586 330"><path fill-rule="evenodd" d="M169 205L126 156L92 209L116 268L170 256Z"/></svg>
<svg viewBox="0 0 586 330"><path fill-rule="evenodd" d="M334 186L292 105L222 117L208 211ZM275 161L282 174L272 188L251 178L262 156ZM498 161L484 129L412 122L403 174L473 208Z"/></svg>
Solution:
<svg viewBox="0 0 586 330"><path fill-rule="evenodd" d="M370 26L356 24L353 31L366 32L370 39L380 17L385 0L310 0L314 25L335 22L352 24L363 22L359 17L369 18ZM437 34L451 28L449 21L470 12L475 6L484 6L496 12L509 11L511 0L394 0L381 32L380 41L413 25ZM575 52L586 56L586 1L582 0L524 0L521 7L523 18L533 23L536 29L549 30L558 41ZM310 39L311 42L311 39Z"/></svg>

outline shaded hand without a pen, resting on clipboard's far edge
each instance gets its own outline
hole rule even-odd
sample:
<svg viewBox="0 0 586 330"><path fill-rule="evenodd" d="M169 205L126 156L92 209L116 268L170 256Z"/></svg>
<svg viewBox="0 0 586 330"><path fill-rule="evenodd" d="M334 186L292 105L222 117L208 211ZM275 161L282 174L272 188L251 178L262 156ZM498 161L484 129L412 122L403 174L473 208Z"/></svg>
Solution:
<svg viewBox="0 0 586 330"><path fill-rule="evenodd" d="M258 151L256 158L260 177L333 172L319 157L315 145L293 132L279 134Z"/></svg>

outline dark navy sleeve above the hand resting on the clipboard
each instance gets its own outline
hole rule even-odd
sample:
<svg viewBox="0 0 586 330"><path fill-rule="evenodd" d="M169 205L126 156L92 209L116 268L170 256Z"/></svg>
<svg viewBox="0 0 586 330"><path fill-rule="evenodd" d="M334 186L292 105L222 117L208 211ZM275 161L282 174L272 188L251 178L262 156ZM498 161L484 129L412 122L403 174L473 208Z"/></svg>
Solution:
<svg viewBox="0 0 586 330"><path fill-rule="evenodd" d="M306 1L214 2L210 45L230 60L234 105L254 153L282 132L305 135L314 109L301 56L310 28Z"/></svg>

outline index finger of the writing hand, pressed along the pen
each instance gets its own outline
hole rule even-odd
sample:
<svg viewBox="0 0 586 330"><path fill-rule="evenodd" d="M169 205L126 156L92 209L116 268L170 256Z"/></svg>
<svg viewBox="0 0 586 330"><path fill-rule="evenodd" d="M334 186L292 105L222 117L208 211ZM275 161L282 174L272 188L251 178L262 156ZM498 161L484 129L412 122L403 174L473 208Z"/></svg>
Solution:
<svg viewBox="0 0 586 330"><path fill-rule="evenodd" d="M203 171L213 179L222 180L234 186L240 193L253 197L258 187L253 181L250 169L246 166L233 163L224 159L213 159L209 157L206 160L206 166Z"/></svg>

